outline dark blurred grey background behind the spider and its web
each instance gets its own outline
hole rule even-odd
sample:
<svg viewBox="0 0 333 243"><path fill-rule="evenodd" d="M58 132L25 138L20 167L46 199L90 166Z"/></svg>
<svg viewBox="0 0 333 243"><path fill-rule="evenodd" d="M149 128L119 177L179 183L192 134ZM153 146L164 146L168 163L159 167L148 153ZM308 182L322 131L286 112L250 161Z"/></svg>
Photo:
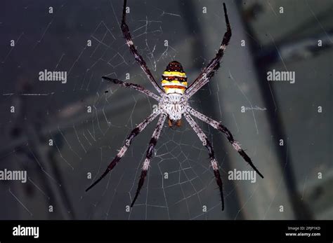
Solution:
<svg viewBox="0 0 333 243"><path fill-rule="evenodd" d="M214 57L226 31L222 3L129 0L133 41L157 80L178 60L191 82ZM152 90L119 28L122 1L2 1L0 169L25 170L28 179L0 181L0 218L332 219L333 2L226 4L230 45L190 104L221 120L265 179L229 180L228 171L251 167L198 121L221 166L221 211L206 148L184 120L165 125L129 212L156 121L110 176L84 192L156 104L101 78L129 74ZM67 71L67 83L39 81L44 69ZM294 71L295 83L267 81L273 69Z"/></svg>

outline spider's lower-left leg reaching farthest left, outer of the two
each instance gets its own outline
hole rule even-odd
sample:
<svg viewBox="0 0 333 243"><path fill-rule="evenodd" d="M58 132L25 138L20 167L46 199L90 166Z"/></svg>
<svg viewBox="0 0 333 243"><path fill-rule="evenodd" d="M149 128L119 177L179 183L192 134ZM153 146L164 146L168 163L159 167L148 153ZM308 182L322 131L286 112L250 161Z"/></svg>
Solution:
<svg viewBox="0 0 333 243"><path fill-rule="evenodd" d="M145 120L143 120L142 123L140 123L139 125L136 126L136 128L134 128L131 133L129 134L129 136L127 137L124 146L122 146L122 148L120 148L119 152L117 153L116 157L112 160L112 162L110 162L110 164L107 166L107 169L105 169L105 172L95 181L91 184L91 186L89 186L89 188L86 188L86 191L90 190L91 188L93 188L93 186L95 186L98 182L100 182L100 180L102 180L107 173L109 173L111 171L111 169L113 169L113 167L115 167L117 165L117 163L119 162L119 160L124 156L124 154L126 153L127 149L129 148L129 146L131 145L131 141L133 140L134 137L136 137L136 135L138 135L140 132L142 132L145 127L152 122L152 120L154 120L159 113L161 113L161 111L157 110L154 113L150 114L150 116L148 116L148 118L145 118Z"/></svg>

